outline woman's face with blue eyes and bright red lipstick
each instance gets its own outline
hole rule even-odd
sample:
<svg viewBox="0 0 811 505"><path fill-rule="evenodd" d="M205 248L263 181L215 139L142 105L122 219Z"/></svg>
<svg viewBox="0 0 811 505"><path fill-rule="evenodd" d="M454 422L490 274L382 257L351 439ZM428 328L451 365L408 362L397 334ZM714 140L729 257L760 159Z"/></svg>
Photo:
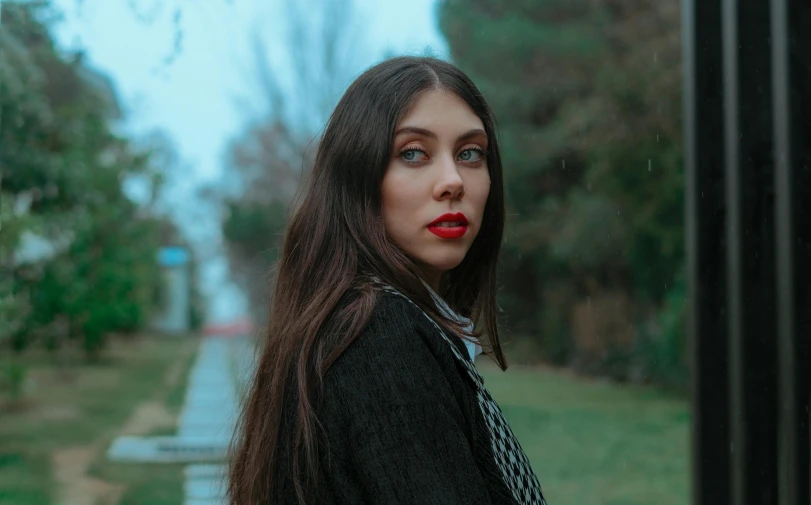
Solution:
<svg viewBox="0 0 811 505"><path fill-rule="evenodd" d="M423 264L434 289L481 228L490 193L486 151L481 120L446 91L423 93L395 129L383 222L388 236Z"/></svg>

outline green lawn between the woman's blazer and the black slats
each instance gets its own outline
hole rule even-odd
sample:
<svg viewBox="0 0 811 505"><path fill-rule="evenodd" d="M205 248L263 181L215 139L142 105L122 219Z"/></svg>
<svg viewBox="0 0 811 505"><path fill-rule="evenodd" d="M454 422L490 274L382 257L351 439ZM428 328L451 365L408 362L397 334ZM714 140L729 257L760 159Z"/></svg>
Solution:
<svg viewBox="0 0 811 505"><path fill-rule="evenodd" d="M477 360L550 505L687 505L688 403L651 388Z"/></svg>

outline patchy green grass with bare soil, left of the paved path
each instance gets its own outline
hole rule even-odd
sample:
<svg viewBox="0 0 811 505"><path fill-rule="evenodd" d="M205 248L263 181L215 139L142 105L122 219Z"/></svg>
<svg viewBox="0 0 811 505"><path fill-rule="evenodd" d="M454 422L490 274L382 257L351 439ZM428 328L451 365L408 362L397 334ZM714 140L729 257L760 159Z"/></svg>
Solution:
<svg viewBox="0 0 811 505"><path fill-rule="evenodd" d="M197 343L115 341L97 364L24 357L32 387L21 404L0 411L0 504L50 505L66 492L82 504L93 504L93 495L122 505L182 503L181 465L111 463L105 451L123 427L138 429L133 414L144 402L163 412L161 426L141 420L144 434L166 431L167 418L179 413Z"/></svg>

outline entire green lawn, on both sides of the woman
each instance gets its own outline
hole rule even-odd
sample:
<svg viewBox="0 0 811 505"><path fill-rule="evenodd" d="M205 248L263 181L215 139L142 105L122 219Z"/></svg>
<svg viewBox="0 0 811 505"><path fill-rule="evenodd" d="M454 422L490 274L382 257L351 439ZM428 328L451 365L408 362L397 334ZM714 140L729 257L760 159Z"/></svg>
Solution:
<svg viewBox="0 0 811 505"><path fill-rule="evenodd" d="M64 369L26 358L35 387L26 404L0 411L0 505L57 503L53 455L71 448L89 457L88 485L116 496L119 505L182 503L181 465L111 463L104 452L138 405L158 402L179 412L196 345L194 339L119 342L100 364ZM477 366L551 505L689 502L685 400L519 365L502 373L486 359ZM168 432L164 425L149 434Z"/></svg>

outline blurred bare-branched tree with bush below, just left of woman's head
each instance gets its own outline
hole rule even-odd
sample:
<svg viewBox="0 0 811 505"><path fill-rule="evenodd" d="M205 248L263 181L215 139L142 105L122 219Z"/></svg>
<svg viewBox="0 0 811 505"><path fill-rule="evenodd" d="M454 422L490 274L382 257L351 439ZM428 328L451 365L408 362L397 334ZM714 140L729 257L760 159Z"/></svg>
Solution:
<svg viewBox="0 0 811 505"><path fill-rule="evenodd" d="M216 195L231 274L247 293L251 314L264 319L270 266L276 260L288 206L314 162L318 131L349 85L365 49L351 3L316 0L285 6L289 61L270 59L263 33L253 34L252 80L265 107L233 139L227 159L230 192ZM356 58L347 58L352 54ZM280 69L284 68L285 74ZM280 76L284 75L286 79ZM287 81L287 85L285 85ZM255 100L252 106L255 110Z"/></svg>

